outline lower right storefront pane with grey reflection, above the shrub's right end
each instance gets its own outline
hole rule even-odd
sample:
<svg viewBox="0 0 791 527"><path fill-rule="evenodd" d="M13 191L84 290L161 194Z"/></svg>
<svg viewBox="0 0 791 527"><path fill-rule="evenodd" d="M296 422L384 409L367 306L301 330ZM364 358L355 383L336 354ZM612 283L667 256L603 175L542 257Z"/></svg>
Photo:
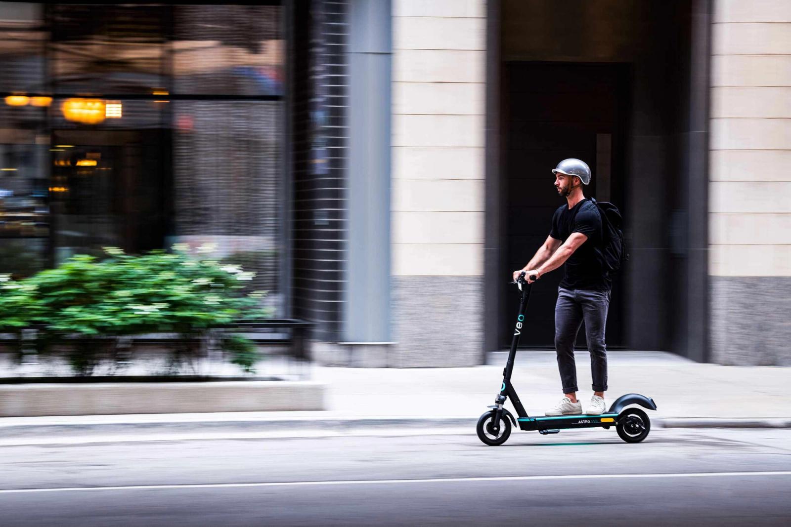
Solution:
<svg viewBox="0 0 791 527"><path fill-rule="evenodd" d="M172 242L214 245L254 270L251 288L279 305L280 104L176 101L173 110Z"/></svg>

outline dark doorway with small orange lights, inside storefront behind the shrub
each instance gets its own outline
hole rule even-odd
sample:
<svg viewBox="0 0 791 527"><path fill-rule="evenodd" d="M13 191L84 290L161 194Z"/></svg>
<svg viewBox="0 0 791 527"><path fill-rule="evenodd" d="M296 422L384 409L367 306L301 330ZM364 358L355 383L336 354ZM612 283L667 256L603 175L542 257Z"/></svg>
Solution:
<svg viewBox="0 0 791 527"><path fill-rule="evenodd" d="M172 217L169 130L53 132L55 263L72 254L165 247Z"/></svg>

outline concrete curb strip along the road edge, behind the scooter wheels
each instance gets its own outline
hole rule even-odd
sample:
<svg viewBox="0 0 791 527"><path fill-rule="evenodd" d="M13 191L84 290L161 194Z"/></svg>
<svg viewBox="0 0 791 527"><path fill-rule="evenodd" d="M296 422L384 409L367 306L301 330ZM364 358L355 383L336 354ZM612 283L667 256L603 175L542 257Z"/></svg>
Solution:
<svg viewBox="0 0 791 527"><path fill-rule="evenodd" d="M87 423L10 423L0 419L0 438L58 437L74 435L121 435L121 434L187 434L187 433L233 433L257 431L352 431L376 428L468 428L475 430L477 418L469 417L335 417L305 418L271 416L257 419L212 419L166 420L166 421L123 421ZM652 420L655 427L664 428L791 428L791 419L744 419L744 418L694 418L664 417Z"/></svg>

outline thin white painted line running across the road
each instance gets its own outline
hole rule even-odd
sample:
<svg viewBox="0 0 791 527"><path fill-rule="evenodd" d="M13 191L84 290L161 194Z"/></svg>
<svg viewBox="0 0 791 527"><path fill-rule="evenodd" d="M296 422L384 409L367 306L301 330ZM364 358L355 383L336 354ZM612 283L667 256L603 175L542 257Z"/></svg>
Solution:
<svg viewBox="0 0 791 527"><path fill-rule="evenodd" d="M791 476L791 470L771 472L676 472L657 474L566 474L556 476L490 476L448 477L417 480L335 480L335 481L272 481L267 483L210 483L182 485L127 485L118 487L51 487L9 488L0 494L23 494L28 492L78 492L78 491L158 491L191 488L244 488L244 487L306 487L308 485L374 485L408 483L464 483L467 481L542 481L542 480L620 480L632 478L678 478L678 477L731 477L731 476Z"/></svg>

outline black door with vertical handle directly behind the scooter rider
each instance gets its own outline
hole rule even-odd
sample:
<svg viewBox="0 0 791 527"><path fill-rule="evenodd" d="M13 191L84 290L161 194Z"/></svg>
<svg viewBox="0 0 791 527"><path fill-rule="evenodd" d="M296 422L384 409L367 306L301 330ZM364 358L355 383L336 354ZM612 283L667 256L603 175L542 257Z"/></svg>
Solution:
<svg viewBox="0 0 791 527"><path fill-rule="evenodd" d="M554 190L551 169L567 157L585 160L593 178L585 196L613 201L624 209L624 145L629 70L621 64L505 62L504 227L501 345L509 346L518 295L505 281L524 266L550 232L551 217L565 200ZM533 288L528 326L520 347L554 348L554 303L563 271L547 274ZM607 345L623 345L623 288L613 281L607 317ZM577 337L585 346L585 331Z"/></svg>

